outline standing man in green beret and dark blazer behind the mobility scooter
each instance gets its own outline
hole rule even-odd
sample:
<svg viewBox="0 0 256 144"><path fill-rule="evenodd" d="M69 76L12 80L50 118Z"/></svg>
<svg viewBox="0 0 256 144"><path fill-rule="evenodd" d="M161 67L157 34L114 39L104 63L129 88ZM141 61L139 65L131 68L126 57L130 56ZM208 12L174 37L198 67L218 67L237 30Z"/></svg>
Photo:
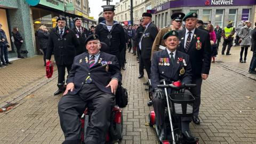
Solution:
<svg viewBox="0 0 256 144"><path fill-rule="evenodd" d="M209 33L196 28L197 13L189 12L183 18L185 29L179 31L180 46L178 51L187 53L192 67L192 83L196 87L191 88L191 93L195 97L195 109L193 122L200 124L198 118L201 103L202 80L207 79L211 67L211 44Z"/></svg>

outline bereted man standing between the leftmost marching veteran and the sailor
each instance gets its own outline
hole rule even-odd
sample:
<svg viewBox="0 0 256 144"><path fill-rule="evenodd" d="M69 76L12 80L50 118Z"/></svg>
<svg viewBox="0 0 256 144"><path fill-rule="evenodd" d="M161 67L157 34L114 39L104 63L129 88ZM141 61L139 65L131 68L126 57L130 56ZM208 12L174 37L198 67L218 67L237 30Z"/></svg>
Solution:
<svg viewBox="0 0 256 144"><path fill-rule="evenodd" d="M74 33L76 34L76 37L79 40L79 46L76 49L76 55L79 55L83 52L86 51L86 49L84 49L85 46L85 40L87 38L87 36L89 35L89 31L82 27L82 19L81 18L76 18L74 20L75 23L75 27L73 28Z"/></svg>

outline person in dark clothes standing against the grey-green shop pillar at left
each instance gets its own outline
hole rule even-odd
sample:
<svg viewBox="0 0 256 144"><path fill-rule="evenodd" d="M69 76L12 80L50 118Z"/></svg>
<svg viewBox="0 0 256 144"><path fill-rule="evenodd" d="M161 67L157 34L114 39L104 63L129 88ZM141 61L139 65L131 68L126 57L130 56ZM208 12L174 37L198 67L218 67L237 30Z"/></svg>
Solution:
<svg viewBox="0 0 256 144"><path fill-rule="evenodd" d="M23 59L24 57L21 57L21 55L20 55L20 48L21 48L21 45L23 43L23 38L20 35L17 27L13 28L12 36L14 38L14 45L15 45L15 47L17 49L18 58L22 58Z"/></svg>

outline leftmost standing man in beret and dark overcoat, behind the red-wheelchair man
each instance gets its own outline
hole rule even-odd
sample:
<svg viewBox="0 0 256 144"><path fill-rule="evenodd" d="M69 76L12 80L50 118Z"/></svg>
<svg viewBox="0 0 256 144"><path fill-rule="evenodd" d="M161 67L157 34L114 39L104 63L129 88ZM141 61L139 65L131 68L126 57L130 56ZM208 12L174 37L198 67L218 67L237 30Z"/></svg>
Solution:
<svg viewBox="0 0 256 144"><path fill-rule="evenodd" d="M73 60L76 56L76 47L79 41L72 29L66 26L66 18L59 17L57 19L57 27L54 28L48 38L46 62L51 59L52 52L58 68L58 91L54 95L58 95L65 90L65 69L69 73Z"/></svg>

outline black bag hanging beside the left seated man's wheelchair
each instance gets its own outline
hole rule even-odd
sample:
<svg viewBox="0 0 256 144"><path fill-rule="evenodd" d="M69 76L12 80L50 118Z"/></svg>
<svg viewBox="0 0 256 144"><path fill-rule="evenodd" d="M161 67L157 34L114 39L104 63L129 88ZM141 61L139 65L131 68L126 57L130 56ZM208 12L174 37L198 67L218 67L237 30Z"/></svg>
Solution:
<svg viewBox="0 0 256 144"><path fill-rule="evenodd" d="M128 93L122 85L118 85L116 90L116 105L120 108L124 108L128 104Z"/></svg>

